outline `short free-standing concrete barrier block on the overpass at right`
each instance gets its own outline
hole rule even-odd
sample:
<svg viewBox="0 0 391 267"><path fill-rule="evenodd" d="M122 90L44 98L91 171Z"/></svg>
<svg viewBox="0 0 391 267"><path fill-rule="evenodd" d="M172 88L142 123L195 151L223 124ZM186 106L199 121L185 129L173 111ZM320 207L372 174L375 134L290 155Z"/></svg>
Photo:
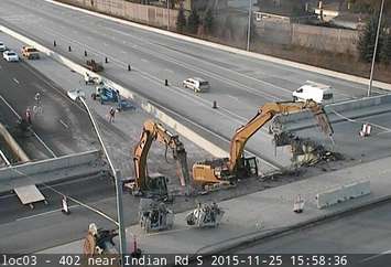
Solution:
<svg viewBox="0 0 391 267"><path fill-rule="evenodd" d="M355 182L316 194L318 209L370 194L370 181Z"/></svg>

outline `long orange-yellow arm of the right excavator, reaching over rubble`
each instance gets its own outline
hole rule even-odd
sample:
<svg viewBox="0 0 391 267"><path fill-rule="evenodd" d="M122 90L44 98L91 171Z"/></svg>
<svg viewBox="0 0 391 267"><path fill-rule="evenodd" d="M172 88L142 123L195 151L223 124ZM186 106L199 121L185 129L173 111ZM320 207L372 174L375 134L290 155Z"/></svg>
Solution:
<svg viewBox="0 0 391 267"><path fill-rule="evenodd" d="M228 168L230 172L235 172L242 158L246 142L268 121L270 121L278 114L292 114L304 109L309 109L316 118L321 129L325 135L333 135L333 128L328 118L321 105L313 100L302 102L282 102L268 103L263 105L258 114L246 125L239 128L230 142Z"/></svg>

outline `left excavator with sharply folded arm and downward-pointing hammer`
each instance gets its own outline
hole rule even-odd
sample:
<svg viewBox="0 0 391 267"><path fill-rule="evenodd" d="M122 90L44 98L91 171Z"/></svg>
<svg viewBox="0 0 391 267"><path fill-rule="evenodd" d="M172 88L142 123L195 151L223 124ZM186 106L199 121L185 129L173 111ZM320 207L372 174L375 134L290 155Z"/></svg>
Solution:
<svg viewBox="0 0 391 267"><path fill-rule="evenodd" d="M167 179L159 173L151 175L148 173L146 158L154 140L165 145L165 157L167 149L170 148L172 150L173 158L176 161L181 185L186 188L187 192L191 182L185 147L177 135L173 135L161 124L153 120L146 120L144 122L140 141L133 150L134 182L126 183L124 186L131 189L132 193L135 195L152 197L169 196Z"/></svg>

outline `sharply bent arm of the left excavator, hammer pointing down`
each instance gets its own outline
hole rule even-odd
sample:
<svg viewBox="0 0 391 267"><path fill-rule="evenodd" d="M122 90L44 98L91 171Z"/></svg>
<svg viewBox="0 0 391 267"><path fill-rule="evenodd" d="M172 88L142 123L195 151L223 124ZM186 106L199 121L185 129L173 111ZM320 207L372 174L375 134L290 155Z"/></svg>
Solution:
<svg viewBox="0 0 391 267"><path fill-rule="evenodd" d="M181 179L181 184L186 185L189 182L189 173L184 145L180 141L178 136L167 131L161 124L153 120L146 120L143 125L140 141L133 151L135 186L141 191L149 189L146 158L154 140L164 143L172 150L173 158L177 164L177 174Z"/></svg>

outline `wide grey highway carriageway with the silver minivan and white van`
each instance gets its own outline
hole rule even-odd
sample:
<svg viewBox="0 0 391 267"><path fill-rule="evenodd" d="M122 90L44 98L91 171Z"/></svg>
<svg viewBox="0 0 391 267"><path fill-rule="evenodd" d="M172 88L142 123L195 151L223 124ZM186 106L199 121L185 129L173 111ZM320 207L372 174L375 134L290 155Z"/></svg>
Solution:
<svg viewBox="0 0 391 267"><path fill-rule="evenodd" d="M228 139L260 105L290 99L291 90L306 79L334 85L337 99L366 92L363 85L177 41L44 1L6 0L1 6L8 10L1 18L12 28L22 29L46 45L56 40L58 52L80 62L84 50L98 60L107 55L110 63L106 75ZM72 53L67 52L68 45ZM126 71L128 63L135 72ZM183 89L181 81L188 76L208 78L210 93L194 95ZM163 86L164 78L169 78L170 87ZM215 99L218 110L210 108ZM270 138L262 132L249 141L249 147L270 160L290 163L287 157L273 156Z"/></svg>

